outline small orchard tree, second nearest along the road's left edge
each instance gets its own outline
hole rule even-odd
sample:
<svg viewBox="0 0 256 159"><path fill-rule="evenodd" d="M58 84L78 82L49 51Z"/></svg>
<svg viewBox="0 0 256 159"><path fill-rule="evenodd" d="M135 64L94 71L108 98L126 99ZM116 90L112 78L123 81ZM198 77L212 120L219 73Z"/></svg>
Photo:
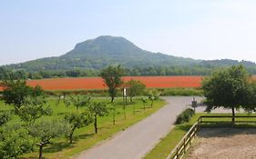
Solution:
<svg viewBox="0 0 256 159"><path fill-rule="evenodd" d="M70 144L73 143L73 134L76 129L86 126L92 123L92 116L86 113L71 113L65 115L65 121L68 126L68 138Z"/></svg>

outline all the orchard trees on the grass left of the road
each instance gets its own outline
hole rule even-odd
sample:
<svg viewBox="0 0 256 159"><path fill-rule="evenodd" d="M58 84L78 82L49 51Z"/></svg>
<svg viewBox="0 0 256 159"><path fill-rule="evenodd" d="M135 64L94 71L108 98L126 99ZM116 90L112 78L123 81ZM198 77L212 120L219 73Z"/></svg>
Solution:
<svg viewBox="0 0 256 159"><path fill-rule="evenodd" d="M132 102L135 95L144 92L145 85L134 80L124 84L121 81L123 69L120 66L109 66L102 70L101 75L108 85L111 102L95 102L84 95L70 95L64 100L64 104L74 106L76 111L60 114L58 119L53 117L56 114L52 106L48 105L47 96L40 86L30 87L23 80L2 82L1 86L4 87L2 99L5 104L12 105L14 109L13 111L0 111L0 158L16 158L21 154L31 152L35 144L40 147L39 158L42 158L43 146L50 144L52 138L67 136L69 143L72 144L74 132L88 124L94 124L97 134L97 118L108 115L110 112L113 112L113 124L115 124L117 104L114 99L119 87L124 85L128 87L128 95ZM152 91L148 93L148 98L141 98L144 110L148 100L151 101L152 106L158 96L157 92ZM19 116L21 122L14 125L9 121L15 115Z"/></svg>

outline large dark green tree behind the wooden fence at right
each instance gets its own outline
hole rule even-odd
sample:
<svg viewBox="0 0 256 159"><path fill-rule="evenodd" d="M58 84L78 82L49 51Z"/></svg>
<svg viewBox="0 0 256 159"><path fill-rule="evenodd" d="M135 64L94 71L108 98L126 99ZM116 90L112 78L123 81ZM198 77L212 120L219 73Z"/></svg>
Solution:
<svg viewBox="0 0 256 159"><path fill-rule="evenodd" d="M202 83L206 97L207 110L224 107L232 110L234 122L235 109L248 104L250 75L241 65L222 69L205 78Z"/></svg>

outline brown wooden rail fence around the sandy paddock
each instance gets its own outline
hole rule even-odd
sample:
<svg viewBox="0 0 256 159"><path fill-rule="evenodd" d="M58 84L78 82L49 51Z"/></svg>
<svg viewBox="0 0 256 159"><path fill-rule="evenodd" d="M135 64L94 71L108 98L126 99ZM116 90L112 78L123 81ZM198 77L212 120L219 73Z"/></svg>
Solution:
<svg viewBox="0 0 256 159"><path fill-rule="evenodd" d="M254 119L254 120L235 120L232 122L231 115L201 115L197 122L193 124L188 133L180 140L179 144L170 152L166 159L180 159L189 149L190 144L193 142L197 133L203 127L203 124L256 124L256 116L254 115L236 115L235 119ZM208 120L206 120L208 119ZM211 119L211 120L210 120ZM221 121L216 119L222 119ZM225 119L225 120L223 120Z"/></svg>

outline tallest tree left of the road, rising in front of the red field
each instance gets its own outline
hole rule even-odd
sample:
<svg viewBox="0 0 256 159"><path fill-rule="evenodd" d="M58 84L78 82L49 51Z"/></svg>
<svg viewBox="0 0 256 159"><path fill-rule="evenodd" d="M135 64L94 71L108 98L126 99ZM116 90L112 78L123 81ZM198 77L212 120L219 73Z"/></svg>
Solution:
<svg viewBox="0 0 256 159"><path fill-rule="evenodd" d="M117 95L118 87L123 84L123 81L121 79L123 75L124 69L120 65L109 65L100 73L100 76L103 78L104 83L108 86L108 94L111 97L111 102L114 101Z"/></svg>

